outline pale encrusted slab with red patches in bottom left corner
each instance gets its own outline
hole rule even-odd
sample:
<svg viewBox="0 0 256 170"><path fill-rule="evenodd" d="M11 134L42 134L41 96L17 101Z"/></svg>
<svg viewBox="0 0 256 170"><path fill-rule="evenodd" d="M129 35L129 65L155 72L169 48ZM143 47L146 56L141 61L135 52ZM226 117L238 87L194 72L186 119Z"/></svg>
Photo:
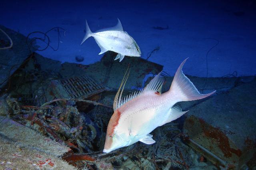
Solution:
<svg viewBox="0 0 256 170"><path fill-rule="evenodd" d="M4 169L66 169L73 166L59 156L69 148L0 116L0 167Z"/></svg>

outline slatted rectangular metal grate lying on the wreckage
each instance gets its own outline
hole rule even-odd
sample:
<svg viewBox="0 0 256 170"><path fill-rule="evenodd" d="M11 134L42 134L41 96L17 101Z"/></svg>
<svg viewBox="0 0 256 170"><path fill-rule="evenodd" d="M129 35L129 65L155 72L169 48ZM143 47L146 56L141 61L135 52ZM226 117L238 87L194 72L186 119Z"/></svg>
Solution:
<svg viewBox="0 0 256 170"><path fill-rule="evenodd" d="M97 84L89 76L72 77L60 80L62 86L71 98L88 98L105 90L102 84Z"/></svg>

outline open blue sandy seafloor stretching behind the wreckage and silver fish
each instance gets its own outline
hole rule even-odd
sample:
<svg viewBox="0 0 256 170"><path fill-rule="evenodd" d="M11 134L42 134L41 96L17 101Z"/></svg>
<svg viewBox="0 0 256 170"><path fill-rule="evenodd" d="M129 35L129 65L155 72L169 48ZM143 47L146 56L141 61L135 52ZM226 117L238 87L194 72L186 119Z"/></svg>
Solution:
<svg viewBox="0 0 256 170"><path fill-rule="evenodd" d="M112 27L120 18L124 30L138 43L142 57L160 47L149 61L164 65L174 75L179 64L189 57L183 71L192 76L256 74L256 2L255 1L6 1L0 3L0 24L24 35L63 27L58 51L39 51L44 57L81 64L100 61L100 48L93 38L80 45L85 20L92 31ZM168 29L154 29L166 27ZM50 34L51 45L57 45L57 33ZM41 43L40 45L44 45ZM124 58L125 59L125 58Z"/></svg>

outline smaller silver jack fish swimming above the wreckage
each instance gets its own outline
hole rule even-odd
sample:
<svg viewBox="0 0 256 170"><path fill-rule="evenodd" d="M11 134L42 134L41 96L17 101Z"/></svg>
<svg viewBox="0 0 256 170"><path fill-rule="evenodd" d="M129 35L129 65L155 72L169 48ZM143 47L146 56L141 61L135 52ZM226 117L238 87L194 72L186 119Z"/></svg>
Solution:
<svg viewBox="0 0 256 170"><path fill-rule="evenodd" d="M94 37L96 43L99 45L103 54L106 51L114 51L118 53L115 60L119 59L119 62L124 59L124 56L140 57L140 47L136 41L124 31L120 20L115 27L100 29L95 33L90 30L87 21L86 22L86 34L82 43L89 37ZM81 44L82 44L81 43Z"/></svg>

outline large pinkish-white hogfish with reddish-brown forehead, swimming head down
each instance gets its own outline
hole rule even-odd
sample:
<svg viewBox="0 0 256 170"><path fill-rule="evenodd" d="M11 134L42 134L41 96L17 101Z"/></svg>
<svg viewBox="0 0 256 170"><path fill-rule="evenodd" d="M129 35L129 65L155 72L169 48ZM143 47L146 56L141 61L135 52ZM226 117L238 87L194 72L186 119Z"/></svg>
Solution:
<svg viewBox="0 0 256 170"><path fill-rule="evenodd" d="M206 98L215 92L209 94L198 92L193 83L182 72L182 66L186 60L180 64L170 90L163 94L161 94L161 89L164 78L160 76L160 72L140 92L121 98L129 75L127 69L114 99L114 113L108 123L103 152L111 152L138 141L145 144L155 143L156 141L152 139L153 135L150 132L158 126L178 119L187 112L182 111L180 107L174 106L174 104Z"/></svg>

